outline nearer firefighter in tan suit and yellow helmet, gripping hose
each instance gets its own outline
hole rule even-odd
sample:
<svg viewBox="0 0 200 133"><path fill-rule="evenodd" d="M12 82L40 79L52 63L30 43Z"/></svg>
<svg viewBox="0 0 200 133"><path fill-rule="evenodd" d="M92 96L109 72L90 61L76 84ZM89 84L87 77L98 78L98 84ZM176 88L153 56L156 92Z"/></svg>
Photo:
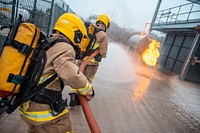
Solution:
<svg viewBox="0 0 200 133"><path fill-rule="evenodd" d="M56 22L51 37L54 45L47 50L47 63L39 83L55 73L58 78L20 106L21 118L27 123L29 133L72 132L68 109L65 108L67 101L62 99L64 85L76 89L88 100L94 96L93 87L79 71L75 60L84 36L87 36L84 23L75 14L65 13Z"/></svg>

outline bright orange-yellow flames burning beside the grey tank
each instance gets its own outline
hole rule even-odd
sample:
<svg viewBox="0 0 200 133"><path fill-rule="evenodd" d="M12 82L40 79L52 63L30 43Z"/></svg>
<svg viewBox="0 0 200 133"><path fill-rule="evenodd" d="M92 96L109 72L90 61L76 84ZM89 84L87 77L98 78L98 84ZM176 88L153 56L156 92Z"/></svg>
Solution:
<svg viewBox="0 0 200 133"><path fill-rule="evenodd" d="M160 52L158 48L160 47L160 43L154 40L153 38L148 38L149 44L147 48L142 52L142 60L150 66L155 66L157 63L157 59L160 56Z"/></svg>

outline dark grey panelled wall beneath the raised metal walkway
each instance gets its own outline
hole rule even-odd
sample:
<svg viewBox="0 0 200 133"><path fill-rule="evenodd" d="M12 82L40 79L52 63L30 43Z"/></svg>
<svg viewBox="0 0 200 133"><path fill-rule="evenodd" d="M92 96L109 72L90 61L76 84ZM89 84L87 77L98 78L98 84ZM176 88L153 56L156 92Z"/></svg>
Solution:
<svg viewBox="0 0 200 133"><path fill-rule="evenodd" d="M168 33L164 44L161 47L161 56L159 65L163 68L180 74L181 69L188 58L191 45L195 38L195 34ZM200 57L200 48L197 50L197 56ZM186 80L200 82L200 66L190 66L186 76Z"/></svg>

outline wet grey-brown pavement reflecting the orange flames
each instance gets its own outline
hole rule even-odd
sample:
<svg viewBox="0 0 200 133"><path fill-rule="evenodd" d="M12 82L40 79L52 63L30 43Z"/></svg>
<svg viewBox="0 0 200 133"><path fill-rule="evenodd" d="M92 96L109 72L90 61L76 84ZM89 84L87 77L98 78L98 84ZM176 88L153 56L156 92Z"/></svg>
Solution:
<svg viewBox="0 0 200 133"><path fill-rule="evenodd" d="M200 85L138 62L110 44L89 102L102 133L200 133ZM69 110L75 133L89 133L81 107ZM0 116L0 133L11 132L26 132L18 111Z"/></svg>

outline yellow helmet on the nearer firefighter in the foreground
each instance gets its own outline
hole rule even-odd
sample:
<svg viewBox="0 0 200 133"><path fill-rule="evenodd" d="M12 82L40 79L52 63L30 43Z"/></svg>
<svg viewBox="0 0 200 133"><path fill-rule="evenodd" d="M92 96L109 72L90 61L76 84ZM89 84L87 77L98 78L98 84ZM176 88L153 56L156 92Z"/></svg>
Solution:
<svg viewBox="0 0 200 133"><path fill-rule="evenodd" d="M53 30L64 34L75 46L80 44L83 37L87 36L83 21L73 13L64 13L61 15Z"/></svg>

